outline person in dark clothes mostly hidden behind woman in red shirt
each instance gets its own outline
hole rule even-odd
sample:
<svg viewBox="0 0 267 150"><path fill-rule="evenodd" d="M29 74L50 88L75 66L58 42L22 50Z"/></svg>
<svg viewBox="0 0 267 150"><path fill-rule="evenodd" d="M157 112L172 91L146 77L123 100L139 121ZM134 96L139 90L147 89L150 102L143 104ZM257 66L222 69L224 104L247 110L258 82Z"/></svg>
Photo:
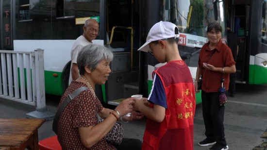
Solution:
<svg viewBox="0 0 267 150"><path fill-rule="evenodd" d="M231 31L231 22L227 21L227 45L232 50L234 62L236 63L238 54L237 35ZM230 84L228 94L230 97L235 95L235 73L230 73Z"/></svg>

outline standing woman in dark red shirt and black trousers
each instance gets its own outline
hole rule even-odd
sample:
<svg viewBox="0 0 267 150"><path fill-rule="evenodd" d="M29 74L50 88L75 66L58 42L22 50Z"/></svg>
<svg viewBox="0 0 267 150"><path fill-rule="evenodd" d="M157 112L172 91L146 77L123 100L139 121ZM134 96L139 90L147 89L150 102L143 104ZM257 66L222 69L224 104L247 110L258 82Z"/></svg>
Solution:
<svg viewBox="0 0 267 150"><path fill-rule="evenodd" d="M201 99L205 124L206 139L200 146L213 145L209 150L228 150L224 137L224 107L219 106L221 78L225 89L229 89L229 74L235 73L235 62L231 49L221 40L221 26L211 23L207 28L209 42L203 45L196 73L195 90L198 90L198 79L202 76Z"/></svg>

